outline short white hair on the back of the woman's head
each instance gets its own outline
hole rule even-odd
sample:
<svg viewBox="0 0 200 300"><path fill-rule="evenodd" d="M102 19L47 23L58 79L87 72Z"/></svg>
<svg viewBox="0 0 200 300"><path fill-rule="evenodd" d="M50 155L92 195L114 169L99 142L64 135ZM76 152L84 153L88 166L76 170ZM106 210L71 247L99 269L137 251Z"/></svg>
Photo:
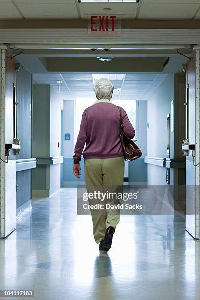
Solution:
<svg viewBox="0 0 200 300"><path fill-rule="evenodd" d="M112 82L107 78L101 78L95 82L95 94L98 99L110 100L113 89Z"/></svg>

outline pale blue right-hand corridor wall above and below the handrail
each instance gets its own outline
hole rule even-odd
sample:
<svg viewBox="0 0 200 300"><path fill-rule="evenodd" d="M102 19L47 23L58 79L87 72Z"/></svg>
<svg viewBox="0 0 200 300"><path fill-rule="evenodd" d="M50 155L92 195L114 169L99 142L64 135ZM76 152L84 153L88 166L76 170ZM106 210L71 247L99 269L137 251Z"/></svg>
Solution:
<svg viewBox="0 0 200 300"><path fill-rule="evenodd" d="M174 74L169 74L147 102L147 156L167 157L167 114L171 113L174 100ZM171 157L174 155L174 133L171 133ZM171 179L173 176L173 169ZM166 168L147 165L147 179L150 185L166 184ZM173 182L173 180L171 180Z"/></svg>

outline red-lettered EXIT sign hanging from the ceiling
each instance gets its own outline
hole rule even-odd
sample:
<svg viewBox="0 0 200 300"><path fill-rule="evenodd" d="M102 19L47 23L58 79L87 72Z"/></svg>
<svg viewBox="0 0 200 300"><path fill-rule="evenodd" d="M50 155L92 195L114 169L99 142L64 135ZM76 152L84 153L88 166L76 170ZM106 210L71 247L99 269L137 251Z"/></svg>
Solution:
<svg viewBox="0 0 200 300"><path fill-rule="evenodd" d="M88 33L120 34L121 29L121 16L119 15L88 16Z"/></svg>

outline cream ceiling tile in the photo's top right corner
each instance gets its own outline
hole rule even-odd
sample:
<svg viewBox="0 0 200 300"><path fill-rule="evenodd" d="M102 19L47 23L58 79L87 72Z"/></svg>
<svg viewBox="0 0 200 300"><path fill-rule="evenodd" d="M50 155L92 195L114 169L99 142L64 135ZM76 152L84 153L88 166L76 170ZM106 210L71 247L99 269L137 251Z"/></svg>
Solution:
<svg viewBox="0 0 200 300"><path fill-rule="evenodd" d="M200 4L142 3L138 19L191 19Z"/></svg>

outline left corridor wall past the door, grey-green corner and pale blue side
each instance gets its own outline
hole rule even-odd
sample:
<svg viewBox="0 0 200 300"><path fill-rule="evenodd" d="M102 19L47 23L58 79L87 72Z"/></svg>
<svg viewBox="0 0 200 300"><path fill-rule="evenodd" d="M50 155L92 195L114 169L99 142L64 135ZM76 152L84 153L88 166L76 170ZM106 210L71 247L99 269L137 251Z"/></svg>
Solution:
<svg viewBox="0 0 200 300"><path fill-rule="evenodd" d="M34 196L49 197L60 187L60 96L50 85L33 85L32 156L37 168L32 171Z"/></svg>

